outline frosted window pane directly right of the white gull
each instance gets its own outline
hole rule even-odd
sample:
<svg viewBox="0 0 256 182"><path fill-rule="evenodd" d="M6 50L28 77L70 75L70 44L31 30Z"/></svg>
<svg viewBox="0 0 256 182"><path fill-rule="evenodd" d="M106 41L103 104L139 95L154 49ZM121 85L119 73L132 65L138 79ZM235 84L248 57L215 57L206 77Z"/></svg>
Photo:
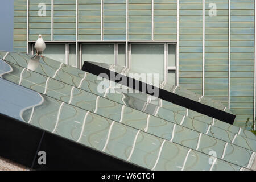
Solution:
<svg viewBox="0 0 256 182"><path fill-rule="evenodd" d="M49 57L61 63L66 63L65 44L46 44L43 56Z"/></svg>

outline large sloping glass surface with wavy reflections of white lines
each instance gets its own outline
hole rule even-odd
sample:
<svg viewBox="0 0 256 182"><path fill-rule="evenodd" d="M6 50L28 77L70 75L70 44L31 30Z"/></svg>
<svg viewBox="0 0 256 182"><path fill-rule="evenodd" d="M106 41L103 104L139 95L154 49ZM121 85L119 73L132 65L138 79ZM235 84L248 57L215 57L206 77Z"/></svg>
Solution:
<svg viewBox="0 0 256 182"><path fill-rule="evenodd" d="M96 75L47 57L0 51L0 77L0 113L128 163L150 170L256 169L250 131L144 93L109 92L111 81L100 93Z"/></svg>

